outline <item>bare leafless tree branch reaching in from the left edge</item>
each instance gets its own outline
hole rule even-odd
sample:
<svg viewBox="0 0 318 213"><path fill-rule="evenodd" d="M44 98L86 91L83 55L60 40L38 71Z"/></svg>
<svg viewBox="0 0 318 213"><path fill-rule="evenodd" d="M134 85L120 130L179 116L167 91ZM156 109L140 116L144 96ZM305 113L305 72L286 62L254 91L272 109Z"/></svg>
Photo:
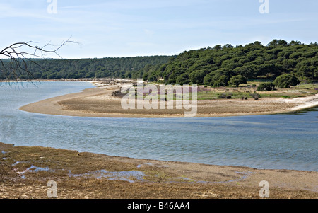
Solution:
<svg viewBox="0 0 318 213"><path fill-rule="evenodd" d="M50 41L43 47L39 47L37 45L33 45L33 43L36 42L30 41L16 42L4 48L3 50L1 50L0 56L5 57L7 59L0 59L0 77L2 76L1 79L17 81L19 79L19 76L23 76L24 74L28 76L29 79L35 79L32 72L28 69L27 62L33 62L34 64L37 64L37 62L35 62L34 59L49 58L46 54L54 54L55 56L62 59L62 57L57 52L61 49L61 47L63 47L67 43L74 43L79 45L78 42L73 42L70 39L71 37L62 42L61 45L58 46L52 45ZM47 48L49 46L54 47L54 49L49 50ZM28 51L21 50L24 50L25 48ZM37 66L40 66L40 64L37 64Z"/></svg>

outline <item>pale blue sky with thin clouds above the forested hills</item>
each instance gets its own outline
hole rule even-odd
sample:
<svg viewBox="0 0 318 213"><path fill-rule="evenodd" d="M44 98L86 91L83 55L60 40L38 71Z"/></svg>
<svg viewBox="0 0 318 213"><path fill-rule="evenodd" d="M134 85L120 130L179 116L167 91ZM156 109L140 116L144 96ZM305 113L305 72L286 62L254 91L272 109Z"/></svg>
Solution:
<svg viewBox="0 0 318 213"><path fill-rule="evenodd" d="M47 1L57 1L49 13ZM71 44L64 58L179 54L273 39L318 42L317 0L0 0L0 49L14 42Z"/></svg>

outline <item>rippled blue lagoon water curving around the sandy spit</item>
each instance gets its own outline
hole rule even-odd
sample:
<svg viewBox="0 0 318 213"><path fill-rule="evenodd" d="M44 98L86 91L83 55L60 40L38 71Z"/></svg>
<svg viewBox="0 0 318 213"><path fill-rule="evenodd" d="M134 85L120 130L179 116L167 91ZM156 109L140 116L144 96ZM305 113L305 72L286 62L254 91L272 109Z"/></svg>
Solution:
<svg viewBox="0 0 318 213"><path fill-rule="evenodd" d="M318 109L204 118L104 118L18 110L88 82L0 83L0 142L139 159L318 171Z"/></svg>

